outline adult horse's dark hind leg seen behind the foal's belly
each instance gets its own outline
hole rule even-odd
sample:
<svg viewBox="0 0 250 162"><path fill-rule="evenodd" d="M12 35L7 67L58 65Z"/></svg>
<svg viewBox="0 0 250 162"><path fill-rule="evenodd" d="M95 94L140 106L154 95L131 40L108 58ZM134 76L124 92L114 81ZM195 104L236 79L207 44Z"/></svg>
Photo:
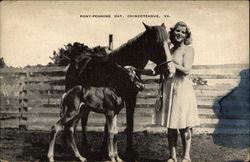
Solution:
<svg viewBox="0 0 250 162"><path fill-rule="evenodd" d="M82 124L82 146L87 150L87 152L91 152L91 146L88 143L87 139L87 122L89 116L89 109L84 109L81 116L81 124Z"/></svg>

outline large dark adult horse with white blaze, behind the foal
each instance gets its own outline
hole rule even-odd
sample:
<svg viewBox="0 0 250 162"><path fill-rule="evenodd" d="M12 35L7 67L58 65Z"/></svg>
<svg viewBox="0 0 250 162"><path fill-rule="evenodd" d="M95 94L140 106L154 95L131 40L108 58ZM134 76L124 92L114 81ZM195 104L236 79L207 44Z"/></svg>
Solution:
<svg viewBox="0 0 250 162"><path fill-rule="evenodd" d="M144 23L143 23L144 24ZM116 80L114 72L110 69L110 64L116 63L121 66L134 66L136 69L144 69L149 60L157 65L167 62L170 72L172 57L168 46L168 32L164 24L161 26L148 26L144 24L146 30L110 54L104 56L91 56L87 54L72 56L70 66L66 72L66 91L75 85L108 86L114 87ZM127 91L127 90L126 90ZM126 103L127 128L127 148L129 157L133 157L133 129L134 129L134 109L136 105L136 95L138 90L130 89L129 95L123 97ZM86 123L88 112L82 115L83 145L87 146ZM104 146L107 136L104 137ZM105 148L105 147L104 147ZM130 156L131 155L131 156Z"/></svg>

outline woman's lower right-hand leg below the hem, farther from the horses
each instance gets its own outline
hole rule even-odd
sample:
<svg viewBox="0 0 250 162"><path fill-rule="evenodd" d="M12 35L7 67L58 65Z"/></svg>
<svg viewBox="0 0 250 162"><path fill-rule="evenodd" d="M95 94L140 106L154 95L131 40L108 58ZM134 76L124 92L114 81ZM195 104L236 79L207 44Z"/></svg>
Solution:
<svg viewBox="0 0 250 162"><path fill-rule="evenodd" d="M181 140L183 144L183 161L190 161L190 148L191 148L191 128L187 127L186 129L180 129Z"/></svg>

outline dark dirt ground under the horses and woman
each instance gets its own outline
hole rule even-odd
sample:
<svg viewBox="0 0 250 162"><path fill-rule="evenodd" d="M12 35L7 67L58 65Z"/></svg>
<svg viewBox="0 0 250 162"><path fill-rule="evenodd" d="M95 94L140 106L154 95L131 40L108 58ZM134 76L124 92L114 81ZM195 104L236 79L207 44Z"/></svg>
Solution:
<svg viewBox="0 0 250 162"><path fill-rule="evenodd" d="M49 132L25 131L17 129L1 130L0 161L46 161ZM80 145L80 132L76 140L80 153L84 155ZM102 161L98 154L103 133L89 132L88 138L94 152L85 156L90 162ZM55 146L56 161L74 161L73 153L61 144L60 134ZM118 149L122 159L126 161L126 136L118 135ZM134 134L134 147L139 162L163 162L168 157L167 136L163 133L140 132ZM178 138L177 155L181 157L181 141ZM244 161L249 154L248 135L194 135L192 139L191 158L193 162L237 162ZM179 159L180 160L180 159Z"/></svg>

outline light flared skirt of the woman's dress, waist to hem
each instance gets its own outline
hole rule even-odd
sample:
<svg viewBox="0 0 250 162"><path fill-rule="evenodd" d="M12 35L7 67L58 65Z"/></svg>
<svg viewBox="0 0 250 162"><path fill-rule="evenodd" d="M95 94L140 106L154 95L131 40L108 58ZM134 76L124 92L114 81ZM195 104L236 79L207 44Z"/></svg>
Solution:
<svg viewBox="0 0 250 162"><path fill-rule="evenodd" d="M175 76L163 81L162 109L155 112L155 124L172 129L183 129L200 124L195 92L189 75L176 71Z"/></svg>

